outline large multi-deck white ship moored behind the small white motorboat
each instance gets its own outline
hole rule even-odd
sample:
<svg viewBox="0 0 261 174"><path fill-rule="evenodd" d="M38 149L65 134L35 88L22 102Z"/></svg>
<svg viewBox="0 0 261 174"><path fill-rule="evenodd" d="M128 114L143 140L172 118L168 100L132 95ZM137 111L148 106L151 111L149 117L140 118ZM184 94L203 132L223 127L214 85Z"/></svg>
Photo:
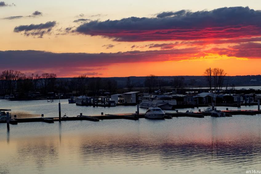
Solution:
<svg viewBox="0 0 261 174"><path fill-rule="evenodd" d="M142 97L139 107L159 107L168 110L173 109L175 105L177 105L177 101L172 99L170 95L145 95Z"/></svg>

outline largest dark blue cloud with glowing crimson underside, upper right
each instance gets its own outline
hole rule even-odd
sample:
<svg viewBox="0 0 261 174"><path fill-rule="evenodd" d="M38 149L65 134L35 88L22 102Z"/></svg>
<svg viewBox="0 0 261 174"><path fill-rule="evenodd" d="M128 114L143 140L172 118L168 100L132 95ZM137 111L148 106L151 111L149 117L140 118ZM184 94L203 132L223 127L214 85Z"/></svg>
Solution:
<svg viewBox="0 0 261 174"><path fill-rule="evenodd" d="M161 13L161 18L95 20L78 26L76 31L128 42L228 39L261 35L261 11L249 7L224 7L197 12L181 10L173 13Z"/></svg>

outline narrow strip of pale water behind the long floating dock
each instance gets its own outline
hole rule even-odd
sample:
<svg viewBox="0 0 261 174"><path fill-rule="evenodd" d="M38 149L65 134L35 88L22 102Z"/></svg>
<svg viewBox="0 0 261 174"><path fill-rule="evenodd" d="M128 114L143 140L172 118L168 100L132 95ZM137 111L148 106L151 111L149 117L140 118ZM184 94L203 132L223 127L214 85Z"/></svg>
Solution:
<svg viewBox="0 0 261 174"><path fill-rule="evenodd" d="M58 117L58 102L54 100L53 103L47 102L47 100L31 100L31 101L7 101L0 100L0 109L11 109L12 115L17 115L18 118L26 117ZM82 113L83 115L101 115L104 114L130 114L137 111L137 106L117 106L117 107L93 107L93 106L77 106L75 103L69 104L68 99L61 99L61 114L67 116L77 116ZM203 111L207 107L199 108L183 108L178 109L179 112L194 111L197 112L199 109ZM217 107L219 110L226 110L227 107ZM257 110L257 106L241 106L228 107L229 110ZM145 108L139 108L140 113L145 113ZM167 110L166 112L176 112L175 110Z"/></svg>

